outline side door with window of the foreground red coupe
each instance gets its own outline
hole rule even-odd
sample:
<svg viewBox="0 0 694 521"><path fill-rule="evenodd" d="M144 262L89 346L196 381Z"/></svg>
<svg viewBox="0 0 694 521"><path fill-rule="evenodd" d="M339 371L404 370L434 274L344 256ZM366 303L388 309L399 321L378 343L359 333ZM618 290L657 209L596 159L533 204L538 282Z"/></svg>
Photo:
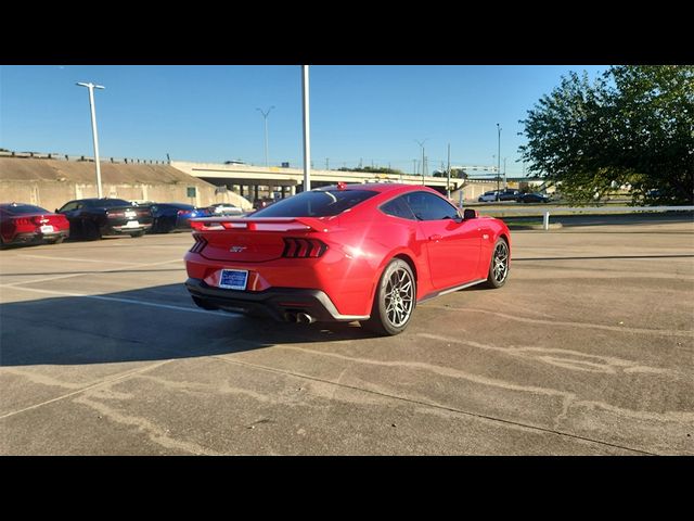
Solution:
<svg viewBox="0 0 694 521"><path fill-rule="evenodd" d="M461 219L455 206L430 192L412 192L404 198L426 240L432 285L444 290L472 281L481 240L476 219Z"/></svg>

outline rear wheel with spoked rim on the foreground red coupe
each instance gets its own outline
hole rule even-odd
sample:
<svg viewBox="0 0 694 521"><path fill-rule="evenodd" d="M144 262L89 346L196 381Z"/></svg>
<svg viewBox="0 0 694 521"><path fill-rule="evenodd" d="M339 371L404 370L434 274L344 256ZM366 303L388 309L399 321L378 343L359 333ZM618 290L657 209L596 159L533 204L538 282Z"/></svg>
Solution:
<svg viewBox="0 0 694 521"><path fill-rule="evenodd" d="M374 295L371 318L363 326L382 335L399 334L408 327L416 302L416 282L410 265L394 258L384 269Z"/></svg>

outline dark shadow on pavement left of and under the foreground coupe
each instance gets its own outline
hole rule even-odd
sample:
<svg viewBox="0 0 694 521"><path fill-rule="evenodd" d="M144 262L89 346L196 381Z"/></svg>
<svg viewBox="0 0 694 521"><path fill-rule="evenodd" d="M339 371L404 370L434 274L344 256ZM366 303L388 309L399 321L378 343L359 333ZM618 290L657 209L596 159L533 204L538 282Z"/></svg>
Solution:
<svg viewBox="0 0 694 521"><path fill-rule="evenodd" d="M356 322L303 325L205 312L182 283L85 296L36 284L7 290L31 300L0 304L2 367L194 358L376 338Z"/></svg>

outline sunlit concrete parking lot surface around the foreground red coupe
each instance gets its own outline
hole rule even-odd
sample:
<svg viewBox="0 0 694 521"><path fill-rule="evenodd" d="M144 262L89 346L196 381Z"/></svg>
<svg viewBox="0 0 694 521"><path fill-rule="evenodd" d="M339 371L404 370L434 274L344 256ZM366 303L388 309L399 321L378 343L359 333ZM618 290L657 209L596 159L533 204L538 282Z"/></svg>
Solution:
<svg viewBox="0 0 694 521"><path fill-rule="evenodd" d="M516 231L395 338L201 310L191 244L0 252L0 454L694 454L691 217Z"/></svg>

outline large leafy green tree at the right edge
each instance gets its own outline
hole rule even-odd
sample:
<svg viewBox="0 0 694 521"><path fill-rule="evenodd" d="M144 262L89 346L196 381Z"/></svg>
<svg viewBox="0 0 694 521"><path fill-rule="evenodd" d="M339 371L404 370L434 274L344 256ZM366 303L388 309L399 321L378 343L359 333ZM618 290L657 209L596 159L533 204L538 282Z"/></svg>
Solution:
<svg viewBox="0 0 694 521"><path fill-rule="evenodd" d="M593 82L570 73L520 123L528 171L571 203L615 183L633 204L694 203L694 66L613 66Z"/></svg>

